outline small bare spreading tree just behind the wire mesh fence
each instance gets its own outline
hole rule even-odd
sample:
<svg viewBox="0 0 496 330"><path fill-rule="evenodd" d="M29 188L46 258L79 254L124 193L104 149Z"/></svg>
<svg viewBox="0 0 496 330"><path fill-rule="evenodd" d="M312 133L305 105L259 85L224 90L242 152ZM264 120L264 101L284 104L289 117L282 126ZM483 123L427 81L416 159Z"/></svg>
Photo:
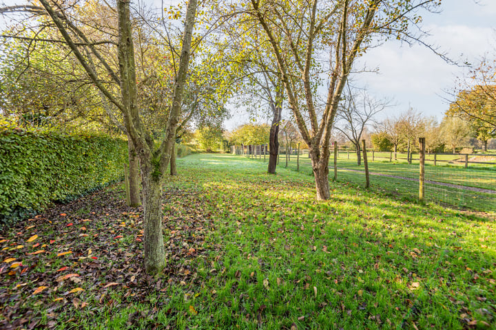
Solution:
<svg viewBox="0 0 496 330"><path fill-rule="evenodd" d="M387 102L374 100L366 91L352 91L349 85L347 87L336 115L335 129L343 133L355 146L357 164L360 165L362 134L366 125L373 122L373 117L386 108Z"/></svg>

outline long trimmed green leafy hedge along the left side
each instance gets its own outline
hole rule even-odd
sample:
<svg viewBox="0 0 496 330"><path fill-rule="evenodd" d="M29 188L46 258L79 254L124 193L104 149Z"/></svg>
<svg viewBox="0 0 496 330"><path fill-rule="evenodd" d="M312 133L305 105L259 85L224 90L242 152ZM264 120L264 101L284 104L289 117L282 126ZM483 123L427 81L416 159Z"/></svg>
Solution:
<svg viewBox="0 0 496 330"><path fill-rule="evenodd" d="M0 124L0 227L123 176L127 142Z"/></svg>

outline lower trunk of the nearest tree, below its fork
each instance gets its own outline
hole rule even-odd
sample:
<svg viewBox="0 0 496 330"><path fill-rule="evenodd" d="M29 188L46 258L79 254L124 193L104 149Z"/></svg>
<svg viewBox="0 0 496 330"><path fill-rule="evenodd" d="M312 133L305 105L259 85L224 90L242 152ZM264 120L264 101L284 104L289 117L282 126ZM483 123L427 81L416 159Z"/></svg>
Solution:
<svg viewBox="0 0 496 330"><path fill-rule="evenodd" d="M148 164L151 164L148 161ZM145 212L144 224L144 263L147 274L157 274L165 267L165 248L162 233L162 189L160 175L156 175L152 166L142 169L143 200Z"/></svg>

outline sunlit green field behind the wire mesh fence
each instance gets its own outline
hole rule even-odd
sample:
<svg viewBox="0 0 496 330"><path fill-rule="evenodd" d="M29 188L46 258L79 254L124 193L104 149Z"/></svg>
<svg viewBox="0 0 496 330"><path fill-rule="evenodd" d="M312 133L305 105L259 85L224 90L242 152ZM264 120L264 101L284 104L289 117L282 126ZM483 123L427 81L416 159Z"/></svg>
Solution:
<svg viewBox="0 0 496 330"><path fill-rule="evenodd" d="M338 157L338 181L364 186L364 165L358 166L356 155L340 153ZM370 157L370 156L369 156ZM331 156L332 158L332 156ZM280 165L285 166L285 155L280 156ZM329 164L330 177L333 177L333 159ZM296 156L291 155L288 168L296 169ZM300 155L300 171L311 174L311 162L308 155ZM360 172L357 172L360 171ZM419 164L415 159L408 164L406 159L397 162L372 162L369 159L369 172L373 190L384 190L393 195L403 196L410 200L418 198ZM391 177L393 176L393 177ZM413 179L401 179L401 177ZM425 179L445 184L479 188L479 191L466 190L462 187L441 186L426 182L426 201L440 203L457 208L471 208L479 211L496 212L496 194L484 190L496 190L496 166L433 166L426 164Z"/></svg>

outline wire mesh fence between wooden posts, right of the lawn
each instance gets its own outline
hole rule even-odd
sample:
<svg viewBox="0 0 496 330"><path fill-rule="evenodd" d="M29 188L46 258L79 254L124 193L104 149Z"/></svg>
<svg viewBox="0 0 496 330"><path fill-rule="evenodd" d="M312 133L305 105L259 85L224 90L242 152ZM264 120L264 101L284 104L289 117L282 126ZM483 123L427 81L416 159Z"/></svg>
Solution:
<svg viewBox="0 0 496 330"><path fill-rule="evenodd" d="M289 155L285 152L281 151L278 166L293 170L299 168L302 173L312 174L308 151L298 151L299 157L296 156L296 150ZM406 199L419 199L419 153L367 151L366 155L371 189ZM251 157L263 161L263 155L256 156ZM329 179L333 178L333 166L331 153ZM365 186L363 153L358 162L355 151L338 150L337 168L338 181ZM442 206L496 212L496 154L426 154L423 197L424 201Z"/></svg>

